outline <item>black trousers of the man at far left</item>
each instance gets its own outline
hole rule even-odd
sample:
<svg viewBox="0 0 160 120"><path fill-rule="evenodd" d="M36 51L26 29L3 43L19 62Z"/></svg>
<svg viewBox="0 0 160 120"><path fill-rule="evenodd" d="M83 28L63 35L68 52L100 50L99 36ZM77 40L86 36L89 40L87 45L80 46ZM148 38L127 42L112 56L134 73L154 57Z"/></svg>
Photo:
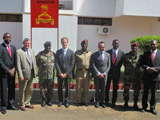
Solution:
<svg viewBox="0 0 160 120"><path fill-rule="evenodd" d="M1 88L1 107L2 108L7 107L7 96L8 96L8 106L13 105L15 101L15 77L10 77L8 75L6 75L5 77L0 77L0 88Z"/></svg>

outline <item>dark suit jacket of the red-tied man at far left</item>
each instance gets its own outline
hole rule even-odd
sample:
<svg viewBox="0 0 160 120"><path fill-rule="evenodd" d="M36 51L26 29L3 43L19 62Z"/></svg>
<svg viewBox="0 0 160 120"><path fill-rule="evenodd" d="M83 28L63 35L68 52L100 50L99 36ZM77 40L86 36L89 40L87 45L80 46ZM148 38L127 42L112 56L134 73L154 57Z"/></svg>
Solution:
<svg viewBox="0 0 160 120"><path fill-rule="evenodd" d="M16 48L10 44L12 58L9 55L8 49L4 43L0 45L0 76L5 77L8 71L15 67Z"/></svg>

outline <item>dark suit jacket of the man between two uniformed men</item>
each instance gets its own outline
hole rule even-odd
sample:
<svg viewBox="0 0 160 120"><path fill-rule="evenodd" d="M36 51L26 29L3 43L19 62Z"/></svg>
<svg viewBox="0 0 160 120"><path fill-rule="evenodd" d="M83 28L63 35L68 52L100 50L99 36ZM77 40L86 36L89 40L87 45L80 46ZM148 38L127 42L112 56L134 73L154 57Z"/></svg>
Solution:
<svg viewBox="0 0 160 120"><path fill-rule="evenodd" d="M72 78L72 70L74 68L75 56L71 49L67 49L65 59L63 55L63 49L59 49L56 52L56 67L57 74L66 73L69 78Z"/></svg>

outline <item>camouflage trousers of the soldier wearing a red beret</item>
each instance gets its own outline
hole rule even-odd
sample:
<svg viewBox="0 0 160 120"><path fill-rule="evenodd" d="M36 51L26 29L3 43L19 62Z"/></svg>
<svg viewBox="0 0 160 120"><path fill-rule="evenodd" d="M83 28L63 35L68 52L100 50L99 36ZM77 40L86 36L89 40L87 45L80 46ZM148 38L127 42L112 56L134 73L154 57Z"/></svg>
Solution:
<svg viewBox="0 0 160 120"><path fill-rule="evenodd" d="M129 90L132 86L132 89L134 91L133 93L133 100L137 102L139 100L139 94L141 89L141 80L139 78L134 77L124 77L124 92L123 97L125 101L129 100Z"/></svg>

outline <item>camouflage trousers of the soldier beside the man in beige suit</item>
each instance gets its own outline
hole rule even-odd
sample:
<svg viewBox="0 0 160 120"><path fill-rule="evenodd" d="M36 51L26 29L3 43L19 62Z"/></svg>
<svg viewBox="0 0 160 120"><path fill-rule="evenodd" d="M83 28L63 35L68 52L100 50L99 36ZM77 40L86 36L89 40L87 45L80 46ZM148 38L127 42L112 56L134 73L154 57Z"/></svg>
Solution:
<svg viewBox="0 0 160 120"><path fill-rule="evenodd" d="M40 96L44 100L51 99L53 97L53 79L40 79L39 87L40 87Z"/></svg>

